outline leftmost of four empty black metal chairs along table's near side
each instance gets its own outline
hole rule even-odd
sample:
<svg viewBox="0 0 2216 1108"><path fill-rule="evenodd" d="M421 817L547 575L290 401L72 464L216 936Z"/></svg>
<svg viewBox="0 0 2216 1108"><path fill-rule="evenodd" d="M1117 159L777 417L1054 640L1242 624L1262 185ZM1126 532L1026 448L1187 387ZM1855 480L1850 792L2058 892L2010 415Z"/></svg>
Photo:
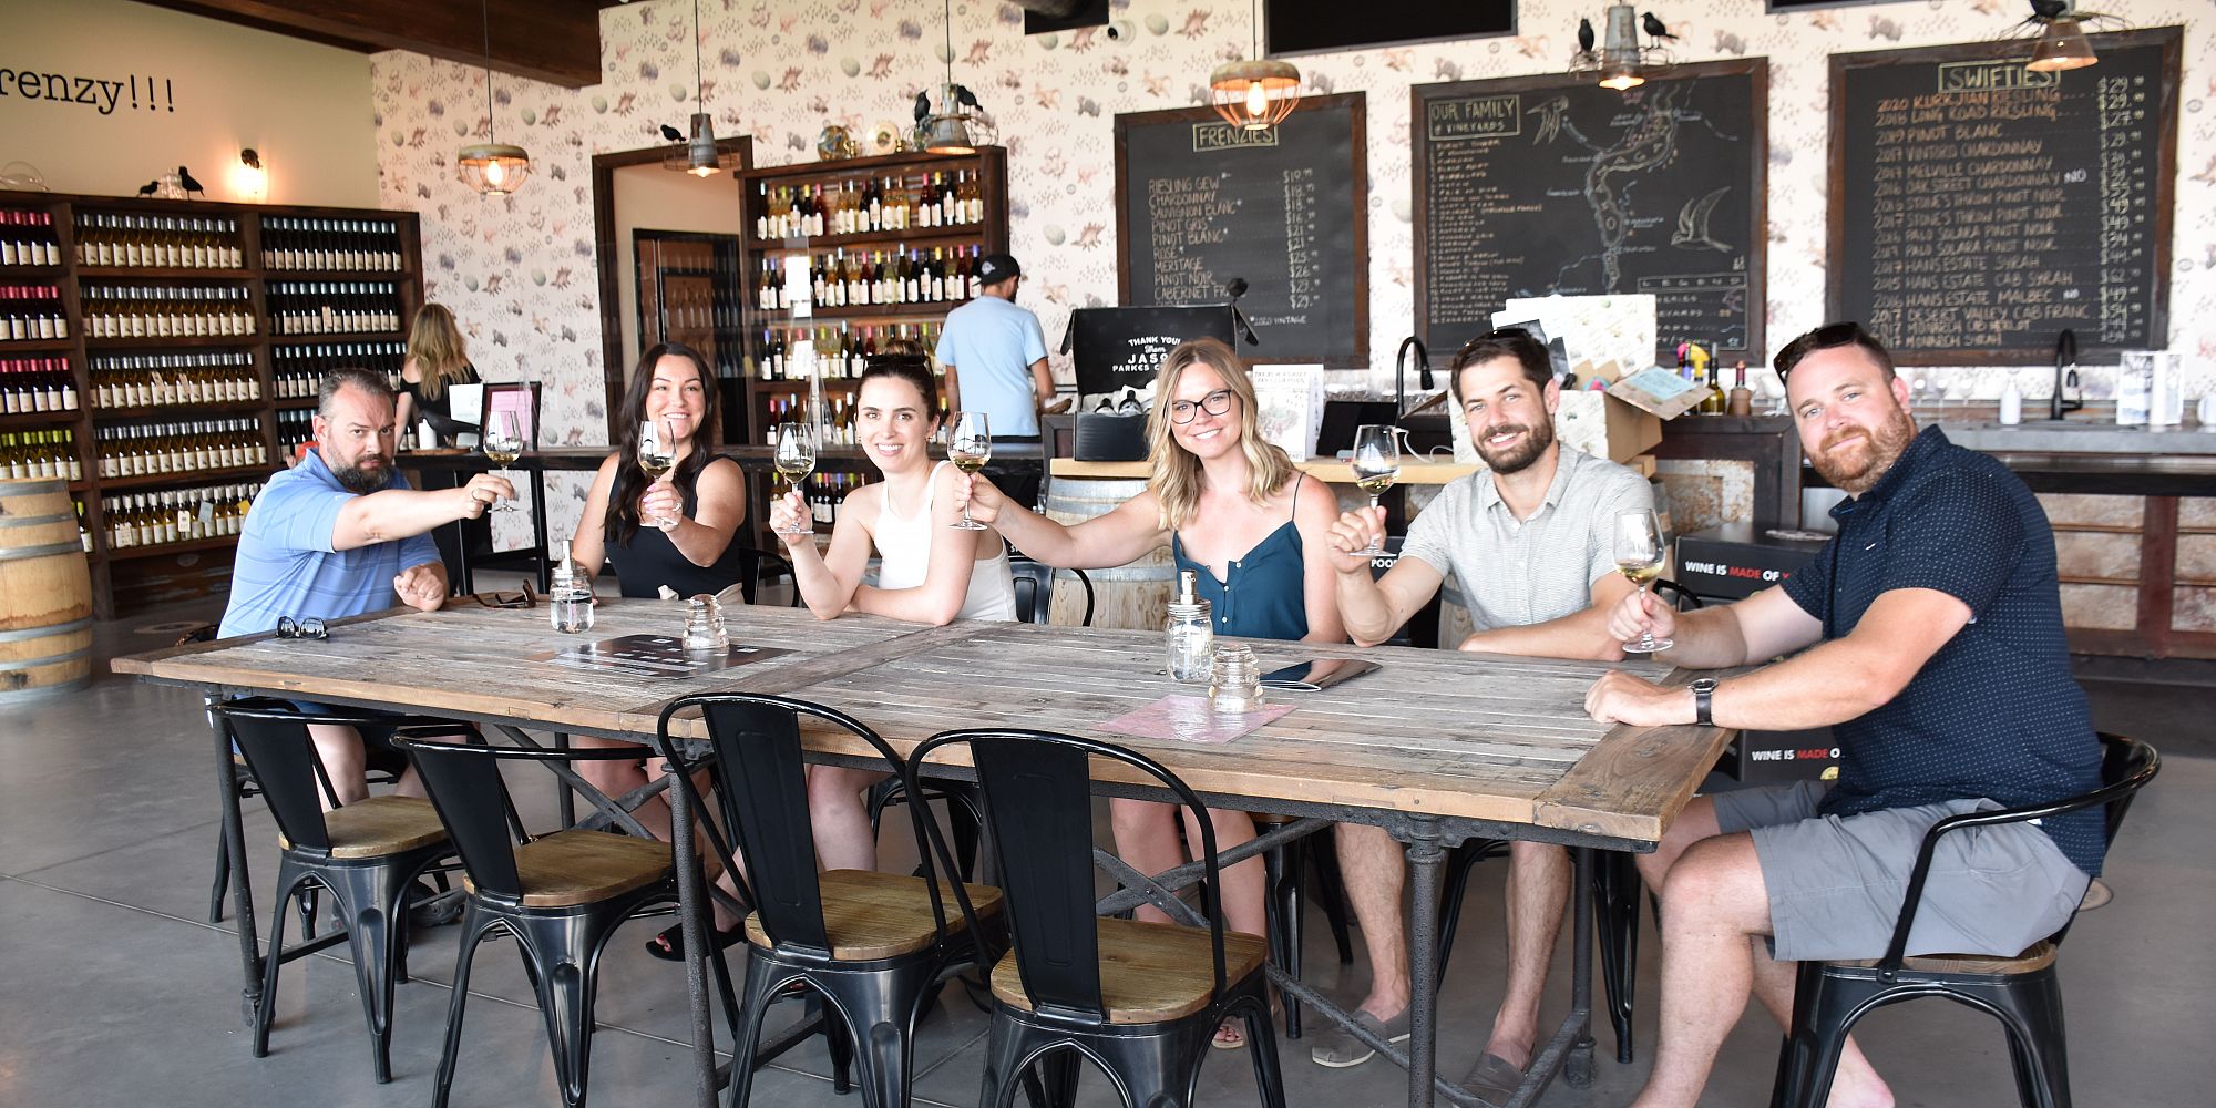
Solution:
<svg viewBox="0 0 2216 1108"><path fill-rule="evenodd" d="M377 1081L392 1079L392 986L408 977L408 886L430 864L452 853L432 807L406 796L372 796L339 804L330 773L315 751L308 725L346 727L437 727L450 720L370 716L361 711L299 711L286 700L228 700L215 705L246 762L261 784L261 800L277 818L277 904L270 911L268 960L261 1004L255 1008L255 1057L268 1055L270 1019L277 1010L277 971L293 960L339 942L352 948L361 1013L370 1024L370 1061ZM324 800L330 811L324 811ZM346 931L284 946L284 917L293 897L324 889L339 902ZM312 917L312 909L306 909Z"/></svg>

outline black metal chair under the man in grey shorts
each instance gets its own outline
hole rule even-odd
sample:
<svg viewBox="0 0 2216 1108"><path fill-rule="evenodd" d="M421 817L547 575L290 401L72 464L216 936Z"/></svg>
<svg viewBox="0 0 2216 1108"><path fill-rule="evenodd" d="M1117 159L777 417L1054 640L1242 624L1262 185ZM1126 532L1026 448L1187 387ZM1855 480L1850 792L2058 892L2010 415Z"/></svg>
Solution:
<svg viewBox="0 0 2216 1108"><path fill-rule="evenodd" d="M1917 997L1946 997L1977 1008L2008 1030L2008 1057L2017 1070L2017 1097L2025 1108L2070 1108L2070 1066L2063 1039L2063 993L2054 975L2054 951L2070 924L2034 942L2014 957L1915 955L1908 931L1923 902L1939 838L1963 827L1994 827L2048 820L2068 811L2105 807L2107 838L2116 840L2132 798L2163 769L2154 747L2101 736L2101 789L2021 809L1972 811L1939 820L1923 833L1917 864L1908 873L1901 917L1892 926L1886 957L1859 962L1802 962L1793 991L1793 1026L1777 1053L1777 1084L1771 1108L1817 1108L1830 1097L1830 1079L1846 1048L1846 1035L1864 1015Z"/></svg>

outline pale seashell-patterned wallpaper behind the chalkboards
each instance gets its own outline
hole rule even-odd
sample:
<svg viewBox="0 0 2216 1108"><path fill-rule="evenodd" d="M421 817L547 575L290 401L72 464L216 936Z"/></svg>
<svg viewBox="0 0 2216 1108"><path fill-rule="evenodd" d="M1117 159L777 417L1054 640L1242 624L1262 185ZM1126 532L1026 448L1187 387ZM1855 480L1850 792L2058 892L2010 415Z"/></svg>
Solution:
<svg viewBox="0 0 2216 1108"><path fill-rule="evenodd" d="M2198 397L2216 388L2216 4L2101 7L2138 27L2185 27L2169 339L2185 352L2187 397ZM1378 379L1414 315L1409 86L1560 71L1578 18L1598 18L1604 0L1518 9L1516 38L1294 58L1307 91L1367 93ZM1762 0L1655 0L1653 9L1680 35L1680 60L1771 60L1766 332L1775 346L1822 324L1826 58L1997 38L2025 4L1906 0L1766 16ZM1059 335L1070 308L1115 301L1112 117L1197 104L1208 71L1252 49L1245 2L1110 0L1110 20L1026 38L1022 9L993 0L955 0L951 24L929 0L700 0L702 100L718 135L753 135L758 164L809 162L827 122L866 135L909 120L915 91L942 80L951 38L955 80L993 113L1008 148L1013 253L1033 275L1022 301ZM479 197L454 179L454 151L485 133L485 73L406 51L372 58L381 202L423 213L428 295L461 317L479 370L543 381L550 441L607 441L592 155L660 144L658 124L683 126L696 111L691 35L691 0L640 0L601 11L601 84L572 91L494 75L499 137L525 146L534 168L510 197ZM1068 381L1059 355L1055 372ZM1997 397L2005 375L1928 370L1932 388L1957 399ZM2087 379L2090 394L2107 394L2101 370ZM2045 375L2025 372L2021 383L2032 397L2048 390ZM574 525L583 496L565 485L552 496L556 534Z"/></svg>

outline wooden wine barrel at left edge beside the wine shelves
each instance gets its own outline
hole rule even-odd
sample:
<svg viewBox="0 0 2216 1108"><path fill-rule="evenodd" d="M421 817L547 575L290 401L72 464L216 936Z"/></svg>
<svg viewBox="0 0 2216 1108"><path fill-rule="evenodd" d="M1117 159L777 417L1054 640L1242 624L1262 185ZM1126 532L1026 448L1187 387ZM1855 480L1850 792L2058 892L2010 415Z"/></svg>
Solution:
<svg viewBox="0 0 2216 1108"><path fill-rule="evenodd" d="M0 481L0 707L93 678L93 578L62 481Z"/></svg>

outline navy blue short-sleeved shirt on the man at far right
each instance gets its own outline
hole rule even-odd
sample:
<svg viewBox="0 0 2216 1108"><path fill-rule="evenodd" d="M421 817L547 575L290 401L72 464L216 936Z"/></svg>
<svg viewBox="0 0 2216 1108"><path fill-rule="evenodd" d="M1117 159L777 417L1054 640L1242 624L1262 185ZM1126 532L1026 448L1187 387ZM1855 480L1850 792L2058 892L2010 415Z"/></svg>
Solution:
<svg viewBox="0 0 2216 1108"><path fill-rule="evenodd" d="M1833 727L1839 784L1822 811L1968 798L2021 807L2099 789L2101 742L2070 676L2054 530L2032 490L1923 428L1877 485L1830 514L1839 536L1782 585L1824 620L1826 640L1853 632L1888 589L1955 596L1970 623L1888 705ZM2101 873L2101 809L2043 829L2072 864Z"/></svg>

